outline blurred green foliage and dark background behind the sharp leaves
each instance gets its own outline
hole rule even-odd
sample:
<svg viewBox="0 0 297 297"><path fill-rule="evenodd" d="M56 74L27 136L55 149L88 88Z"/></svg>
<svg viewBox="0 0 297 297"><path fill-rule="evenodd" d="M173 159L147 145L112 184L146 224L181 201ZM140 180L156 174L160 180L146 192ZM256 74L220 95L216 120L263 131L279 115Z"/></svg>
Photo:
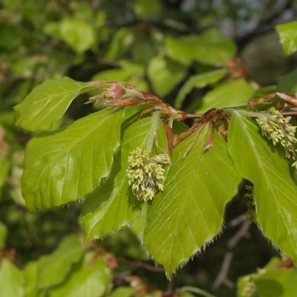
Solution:
<svg viewBox="0 0 297 297"><path fill-rule="evenodd" d="M55 250L67 234L80 232L79 202L33 214L26 210L20 193L30 136L14 129L12 108L34 87L63 76L124 81L156 93L175 108L198 113L245 104L275 90L293 93L297 55L285 56L275 26L291 22L296 15L293 0L1 0L0 261L10 259L29 270L27 263L37 263L29 261ZM91 113L92 106L83 104L87 98L74 100L64 120ZM241 275L263 267L278 254L256 225L246 223L242 201L235 198L228 205L223 234L178 271L172 283L139 247L137 223L112 234L95 250L109 261L106 269L115 269L113 277L105 273L104 290L94 296L108 292L112 283L119 287L112 296L136 294L135 288L139 295L161 295L158 290L170 295L183 286L200 287L217 296L235 295ZM237 235L240 240L234 245ZM81 257L94 257L92 248L84 251L87 256L79 253L79 265L84 265ZM3 263L2 269L11 271L11 264ZM224 265L228 271L222 277ZM69 281L69 271L63 273L61 278ZM47 288L55 286L51 296L71 295L59 288L59 282L38 290L46 295ZM24 294L32 296L30 291ZM182 290L178 294L191 296Z"/></svg>

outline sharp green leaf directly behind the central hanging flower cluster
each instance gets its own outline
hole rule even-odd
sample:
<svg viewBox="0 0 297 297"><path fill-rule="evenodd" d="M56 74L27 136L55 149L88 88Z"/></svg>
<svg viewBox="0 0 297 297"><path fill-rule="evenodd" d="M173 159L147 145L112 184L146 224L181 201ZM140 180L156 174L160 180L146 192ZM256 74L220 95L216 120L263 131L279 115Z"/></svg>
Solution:
<svg viewBox="0 0 297 297"><path fill-rule="evenodd" d="M137 121L124 131L121 151L115 156L110 177L87 196L82 208L87 243L130 224L140 214L143 202L137 201L128 185L128 157L137 147L146 149L147 143L154 140L154 132L158 134L159 145L165 148L162 123L153 124L152 117Z"/></svg>

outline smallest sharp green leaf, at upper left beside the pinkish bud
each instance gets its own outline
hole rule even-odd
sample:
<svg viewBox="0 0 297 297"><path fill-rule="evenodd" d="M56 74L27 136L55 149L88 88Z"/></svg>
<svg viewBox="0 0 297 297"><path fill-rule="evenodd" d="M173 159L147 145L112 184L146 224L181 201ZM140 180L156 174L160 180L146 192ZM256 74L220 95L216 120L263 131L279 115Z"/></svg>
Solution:
<svg viewBox="0 0 297 297"><path fill-rule="evenodd" d="M28 131L52 130L73 99L91 89L96 87L69 77L46 80L14 107L15 124Z"/></svg>

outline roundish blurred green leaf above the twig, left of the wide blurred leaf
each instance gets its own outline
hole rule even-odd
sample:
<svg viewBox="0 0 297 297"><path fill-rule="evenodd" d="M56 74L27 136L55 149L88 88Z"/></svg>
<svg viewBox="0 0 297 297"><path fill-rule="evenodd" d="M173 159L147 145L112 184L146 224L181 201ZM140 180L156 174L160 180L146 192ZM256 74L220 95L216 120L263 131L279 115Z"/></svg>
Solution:
<svg viewBox="0 0 297 297"><path fill-rule="evenodd" d="M147 75L155 92L159 96L164 96L182 80L186 70L183 65L172 59L157 56L150 61Z"/></svg>

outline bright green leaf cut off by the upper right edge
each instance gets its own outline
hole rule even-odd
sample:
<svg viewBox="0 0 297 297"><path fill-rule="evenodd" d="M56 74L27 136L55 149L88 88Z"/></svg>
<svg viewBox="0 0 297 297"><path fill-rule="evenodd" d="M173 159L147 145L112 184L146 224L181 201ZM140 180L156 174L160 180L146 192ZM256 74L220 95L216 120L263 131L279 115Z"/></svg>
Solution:
<svg viewBox="0 0 297 297"><path fill-rule="evenodd" d="M284 54L291 55L297 51L297 22L291 22L277 26L283 46Z"/></svg>

